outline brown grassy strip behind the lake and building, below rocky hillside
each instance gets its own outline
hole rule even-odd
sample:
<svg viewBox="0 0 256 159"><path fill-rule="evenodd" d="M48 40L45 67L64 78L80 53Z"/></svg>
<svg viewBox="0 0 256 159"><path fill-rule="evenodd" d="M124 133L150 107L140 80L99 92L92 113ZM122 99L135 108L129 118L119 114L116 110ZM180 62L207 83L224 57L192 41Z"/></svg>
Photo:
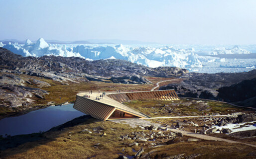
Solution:
<svg viewBox="0 0 256 159"><path fill-rule="evenodd" d="M39 99L36 97L32 97L34 100L34 103L29 106L20 106L20 107L0 107L0 119L10 116L10 115L17 115L17 114L23 114L31 110L39 109L47 105L48 102L54 102L55 105L63 104L65 102L75 102L76 94L78 92L83 91L113 91L116 92L117 90L120 90L121 92L124 91L142 91L142 90L150 90L156 82L170 79L170 78L155 78L155 77L146 77L148 80L152 80L152 84L120 84L120 83L105 83L105 82L99 82L99 81L91 81L91 82L81 82L81 83L75 83L75 82L65 82L69 85L65 85L59 81L54 81L51 79L44 79L41 77L31 77L27 75L20 75L21 79L38 79L41 81L45 81L51 86L49 87L43 87L41 89L44 89L49 92L48 95L45 95L45 99ZM38 88L37 85L24 83L26 86Z"/></svg>

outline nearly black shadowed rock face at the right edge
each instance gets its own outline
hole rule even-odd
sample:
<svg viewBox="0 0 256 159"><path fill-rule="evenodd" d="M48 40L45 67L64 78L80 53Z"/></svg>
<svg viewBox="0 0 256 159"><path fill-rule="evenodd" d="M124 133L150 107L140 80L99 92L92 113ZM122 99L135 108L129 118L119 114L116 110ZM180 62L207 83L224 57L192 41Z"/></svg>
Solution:
<svg viewBox="0 0 256 159"><path fill-rule="evenodd" d="M227 102L243 101L256 96L256 78L221 87L217 91L218 97Z"/></svg>

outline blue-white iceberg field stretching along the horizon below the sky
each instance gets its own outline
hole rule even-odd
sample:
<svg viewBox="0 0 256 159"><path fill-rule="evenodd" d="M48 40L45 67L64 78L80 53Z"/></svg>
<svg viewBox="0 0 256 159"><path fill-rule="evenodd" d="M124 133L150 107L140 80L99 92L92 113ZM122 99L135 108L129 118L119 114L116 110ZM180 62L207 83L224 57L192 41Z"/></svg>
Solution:
<svg viewBox="0 0 256 159"><path fill-rule="evenodd" d="M251 51L241 49L237 45L233 46L232 48L226 48L223 46L166 46L160 44L48 44L43 38L40 38L36 41L36 43L32 43L29 39L27 39L24 45L18 43L8 43L3 45L0 42L0 47L4 47L15 54L22 56L74 56L84 58L86 60L121 59L152 68L170 66L185 68L192 72L208 73L211 71L211 73L217 73L222 72L222 70L224 70L223 72L233 72L234 70L235 72L239 72L236 70L237 68L243 69L240 71L244 72L253 70L256 67L256 57L246 60L217 57L218 55L232 56L237 54L252 54ZM251 47L254 48L255 46Z"/></svg>

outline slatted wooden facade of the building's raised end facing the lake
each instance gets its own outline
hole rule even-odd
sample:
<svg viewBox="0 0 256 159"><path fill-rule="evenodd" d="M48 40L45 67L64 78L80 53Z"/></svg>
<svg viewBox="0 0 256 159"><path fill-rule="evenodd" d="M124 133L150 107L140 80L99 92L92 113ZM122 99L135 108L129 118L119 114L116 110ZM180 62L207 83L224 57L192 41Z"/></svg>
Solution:
<svg viewBox="0 0 256 159"><path fill-rule="evenodd" d="M85 114L90 114L92 117L100 120L107 120L116 110L116 108L113 106L109 106L107 104L103 104L78 95L76 97L73 108Z"/></svg>

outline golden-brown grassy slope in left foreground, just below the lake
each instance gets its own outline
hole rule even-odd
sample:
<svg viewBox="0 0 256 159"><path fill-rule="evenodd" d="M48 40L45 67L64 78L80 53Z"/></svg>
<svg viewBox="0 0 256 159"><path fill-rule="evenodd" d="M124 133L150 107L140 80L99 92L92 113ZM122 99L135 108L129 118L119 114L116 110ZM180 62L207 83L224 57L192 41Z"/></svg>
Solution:
<svg viewBox="0 0 256 159"><path fill-rule="evenodd" d="M100 134L92 129L104 128ZM88 129L92 132L81 133ZM134 155L132 149L139 147L127 147L131 140L123 141L120 135L132 131L141 131L137 128L130 128L126 124L117 124L111 121L98 121L89 119L80 125L46 132L43 139L22 144L16 148L0 151L3 159L114 159L122 153L127 156ZM106 132L106 136L102 136ZM124 149L124 150L123 150Z"/></svg>

